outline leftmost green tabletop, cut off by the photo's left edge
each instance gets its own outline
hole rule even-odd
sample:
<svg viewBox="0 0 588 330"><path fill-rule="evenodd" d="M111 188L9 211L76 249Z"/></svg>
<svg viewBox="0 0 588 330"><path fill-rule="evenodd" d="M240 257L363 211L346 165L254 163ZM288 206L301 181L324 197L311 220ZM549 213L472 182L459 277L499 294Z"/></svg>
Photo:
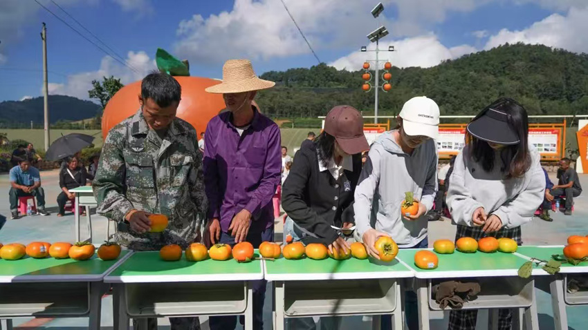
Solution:
<svg viewBox="0 0 588 330"><path fill-rule="evenodd" d="M117 260L104 261L94 255L90 260L43 258L25 256L20 260L0 259L0 282L95 282L125 260L130 251L124 250Z"/></svg>

